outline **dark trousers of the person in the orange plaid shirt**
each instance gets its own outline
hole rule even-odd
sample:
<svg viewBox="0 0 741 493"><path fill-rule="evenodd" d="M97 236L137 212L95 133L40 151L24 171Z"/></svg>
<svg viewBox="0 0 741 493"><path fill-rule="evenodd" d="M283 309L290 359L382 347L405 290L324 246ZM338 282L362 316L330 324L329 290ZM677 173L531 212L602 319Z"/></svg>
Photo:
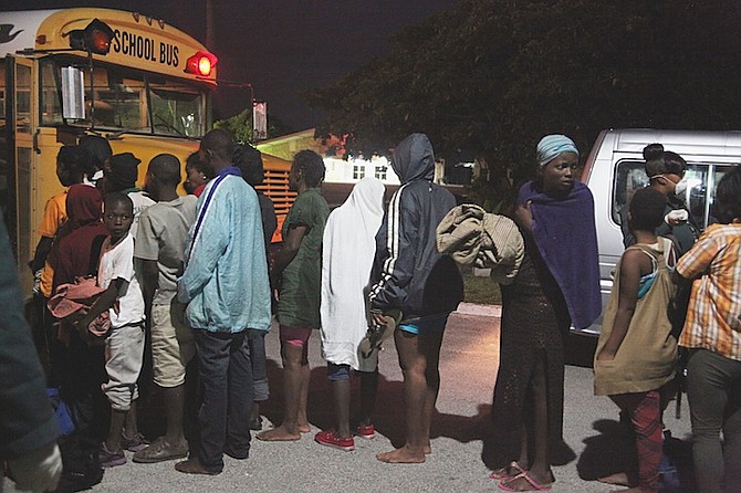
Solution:
<svg viewBox="0 0 741 493"><path fill-rule="evenodd" d="M687 397L697 491L741 492L741 361L708 349L690 350Z"/></svg>

